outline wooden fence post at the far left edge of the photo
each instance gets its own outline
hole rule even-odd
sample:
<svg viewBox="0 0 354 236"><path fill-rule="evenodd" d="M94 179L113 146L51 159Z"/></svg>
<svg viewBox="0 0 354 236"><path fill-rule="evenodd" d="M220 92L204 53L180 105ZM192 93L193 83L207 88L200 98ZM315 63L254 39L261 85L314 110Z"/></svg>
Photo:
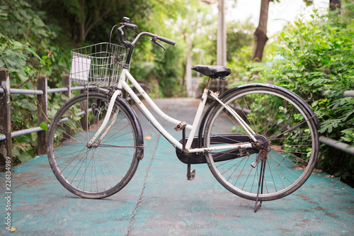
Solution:
<svg viewBox="0 0 354 236"><path fill-rule="evenodd" d="M10 78L8 70L0 68L0 86L4 93L0 94L0 133L5 135L6 139L0 141L0 171L4 172L6 168L6 157L11 159L12 165L12 142L11 142L11 105L10 105Z"/></svg>

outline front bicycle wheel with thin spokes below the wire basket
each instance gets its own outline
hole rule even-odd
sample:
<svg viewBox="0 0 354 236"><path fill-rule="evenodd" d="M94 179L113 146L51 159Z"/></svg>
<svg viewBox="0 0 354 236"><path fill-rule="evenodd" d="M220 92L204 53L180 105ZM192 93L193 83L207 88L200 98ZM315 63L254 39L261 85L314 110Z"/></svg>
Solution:
<svg viewBox="0 0 354 236"><path fill-rule="evenodd" d="M110 96L79 94L57 111L48 133L48 159L59 182L83 198L105 198L120 191L135 174L137 127L132 115L115 101L105 130L92 145Z"/></svg>

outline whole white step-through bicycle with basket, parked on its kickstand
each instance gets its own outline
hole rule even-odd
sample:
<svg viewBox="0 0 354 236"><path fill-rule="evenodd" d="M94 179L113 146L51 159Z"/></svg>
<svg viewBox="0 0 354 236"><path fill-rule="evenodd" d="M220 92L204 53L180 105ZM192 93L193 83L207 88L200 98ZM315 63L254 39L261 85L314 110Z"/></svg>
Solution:
<svg viewBox="0 0 354 236"><path fill-rule="evenodd" d="M176 148L178 159L188 165L188 179L195 175L190 164L208 164L222 186L256 201L258 208L258 201L287 196L309 178L319 153L319 121L299 96L271 84L236 86L219 95L210 90L210 83L225 79L229 67L197 65L192 69L210 79L195 119L193 124L176 120L156 106L129 72L140 38L149 37L161 47L158 40L175 42L145 32L130 43L123 39L123 30L137 26L124 18L115 27L123 46L101 43L72 51L70 79L95 86L64 103L50 125L50 167L66 189L83 198L105 198L135 174L144 154L144 136L135 111L122 99L123 90ZM159 116L176 125L181 141L162 127L128 82ZM208 97L214 101L205 109ZM188 137L185 130L190 130Z"/></svg>

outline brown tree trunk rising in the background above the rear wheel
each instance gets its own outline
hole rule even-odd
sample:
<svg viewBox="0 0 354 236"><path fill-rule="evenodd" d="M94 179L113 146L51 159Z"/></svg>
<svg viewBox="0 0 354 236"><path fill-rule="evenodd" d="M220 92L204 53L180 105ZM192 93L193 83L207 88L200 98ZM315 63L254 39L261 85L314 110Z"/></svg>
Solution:
<svg viewBox="0 0 354 236"><path fill-rule="evenodd" d="M261 62L263 57L263 50L267 37L267 21L268 21L268 7L269 0L261 0L261 13L259 16L259 23L254 35L254 47L252 53L252 61Z"/></svg>

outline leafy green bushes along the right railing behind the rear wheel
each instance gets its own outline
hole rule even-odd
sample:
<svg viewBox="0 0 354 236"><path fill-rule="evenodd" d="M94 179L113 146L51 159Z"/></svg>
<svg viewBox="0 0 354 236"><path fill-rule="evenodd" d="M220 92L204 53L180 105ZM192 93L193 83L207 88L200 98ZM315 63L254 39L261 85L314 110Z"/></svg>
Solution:
<svg viewBox="0 0 354 236"><path fill-rule="evenodd" d="M354 98L338 98L354 89L354 20L348 17L354 4L343 6L341 15L319 17L314 12L312 21L300 18L280 33L275 54L284 60L273 60L271 67L263 64L259 75L305 99L320 120L321 135L354 146ZM353 155L321 145L319 161L326 171L353 184Z"/></svg>

